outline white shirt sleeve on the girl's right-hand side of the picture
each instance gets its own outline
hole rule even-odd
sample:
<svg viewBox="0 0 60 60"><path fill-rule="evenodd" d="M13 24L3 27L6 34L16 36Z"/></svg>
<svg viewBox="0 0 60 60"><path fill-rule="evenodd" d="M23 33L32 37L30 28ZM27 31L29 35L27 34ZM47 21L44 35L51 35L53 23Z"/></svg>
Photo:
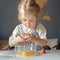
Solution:
<svg viewBox="0 0 60 60"><path fill-rule="evenodd" d="M41 39L47 39L46 38L46 29L45 27L42 25L42 24L38 24L38 27L37 27L37 32L38 32L38 35Z"/></svg>

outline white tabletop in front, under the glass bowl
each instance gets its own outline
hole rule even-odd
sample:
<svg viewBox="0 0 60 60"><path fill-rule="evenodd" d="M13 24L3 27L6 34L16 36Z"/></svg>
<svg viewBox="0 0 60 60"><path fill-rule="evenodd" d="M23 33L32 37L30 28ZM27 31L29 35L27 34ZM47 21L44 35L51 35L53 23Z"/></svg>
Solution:
<svg viewBox="0 0 60 60"><path fill-rule="evenodd" d="M16 56L14 51L0 51L0 60L60 60L60 50L48 50L43 55L25 57Z"/></svg>

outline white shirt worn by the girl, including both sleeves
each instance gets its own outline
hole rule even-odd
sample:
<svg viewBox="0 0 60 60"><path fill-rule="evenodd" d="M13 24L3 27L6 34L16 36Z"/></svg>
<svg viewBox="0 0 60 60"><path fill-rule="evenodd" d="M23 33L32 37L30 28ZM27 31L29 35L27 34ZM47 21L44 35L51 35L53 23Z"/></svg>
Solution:
<svg viewBox="0 0 60 60"><path fill-rule="evenodd" d="M23 24L17 25L13 30L12 35L9 37L9 40L16 38L23 33L33 34L41 39L46 39L46 29L41 23L38 23L35 30L27 28Z"/></svg>

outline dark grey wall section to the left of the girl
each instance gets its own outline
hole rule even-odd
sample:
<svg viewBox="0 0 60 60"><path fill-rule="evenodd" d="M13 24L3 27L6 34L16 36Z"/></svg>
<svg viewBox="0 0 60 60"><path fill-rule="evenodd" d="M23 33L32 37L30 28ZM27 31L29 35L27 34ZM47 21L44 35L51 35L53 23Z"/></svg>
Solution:
<svg viewBox="0 0 60 60"><path fill-rule="evenodd" d="M0 40L8 39L17 21L18 0L0 0Z"/></svg>

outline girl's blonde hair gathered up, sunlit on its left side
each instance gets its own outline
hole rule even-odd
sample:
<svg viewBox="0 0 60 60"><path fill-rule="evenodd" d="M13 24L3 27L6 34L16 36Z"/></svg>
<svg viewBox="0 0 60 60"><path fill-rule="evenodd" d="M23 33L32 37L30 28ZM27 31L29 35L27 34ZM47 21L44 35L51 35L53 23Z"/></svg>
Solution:
<svg viewBox="0 0 60 60"><path fill-rule="evenodd" d="M18 4L18 19L22 20L26 13L38 16L40 7L35 0L20 0Z"/></svg>

